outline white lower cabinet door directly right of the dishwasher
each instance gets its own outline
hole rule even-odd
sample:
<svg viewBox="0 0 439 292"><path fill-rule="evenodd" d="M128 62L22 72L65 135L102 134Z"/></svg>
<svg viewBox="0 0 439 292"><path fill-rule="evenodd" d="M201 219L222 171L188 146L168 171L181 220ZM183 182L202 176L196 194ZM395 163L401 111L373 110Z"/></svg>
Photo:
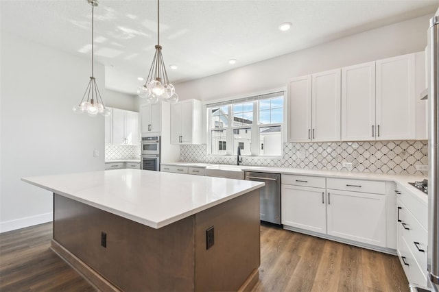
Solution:
<svg viewBox="0 0 439 292"><path fill-rule="evenodd" d="M324 188L282 184L282 224L326 233Z"/></svg>

